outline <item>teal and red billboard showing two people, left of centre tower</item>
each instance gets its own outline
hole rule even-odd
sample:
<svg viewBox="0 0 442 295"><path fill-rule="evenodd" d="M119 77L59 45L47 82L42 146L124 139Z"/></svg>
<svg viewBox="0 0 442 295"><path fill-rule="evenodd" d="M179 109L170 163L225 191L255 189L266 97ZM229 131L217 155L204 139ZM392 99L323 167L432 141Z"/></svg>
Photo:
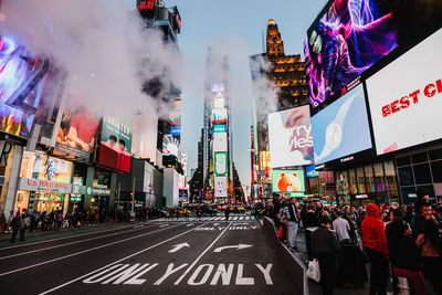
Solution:
<svg viewBox="0 0 442 295"><path fill-rule="evenodd" d="M130 171L131 117L116 119L103 117L98 164L108 168Z"/></svg>

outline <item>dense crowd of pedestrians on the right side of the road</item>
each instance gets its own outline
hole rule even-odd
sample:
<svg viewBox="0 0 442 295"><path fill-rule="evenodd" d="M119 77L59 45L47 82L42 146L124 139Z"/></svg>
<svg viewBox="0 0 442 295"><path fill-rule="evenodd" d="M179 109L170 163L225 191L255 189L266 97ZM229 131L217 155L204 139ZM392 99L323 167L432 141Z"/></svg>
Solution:
<svg viewBox="0 0 442 295"><path fill-rule="evenodd" d="M417 194L409 206L369 203L356 209L299 204L274 193L264 214L292 251L297 251L298 228L304 229L308 260L318 262L323 294L334 294L344 284L364 286L366 263L369 294L442 294L442 206L430 203L424 190Z"/></svg>

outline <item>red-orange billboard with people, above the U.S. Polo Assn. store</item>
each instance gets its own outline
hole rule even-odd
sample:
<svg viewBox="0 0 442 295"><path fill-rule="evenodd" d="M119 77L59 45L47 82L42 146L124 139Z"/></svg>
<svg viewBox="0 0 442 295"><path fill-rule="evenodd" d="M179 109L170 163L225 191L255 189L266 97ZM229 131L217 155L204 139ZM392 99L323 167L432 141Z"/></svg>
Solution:
<svg viewBox="0 0 442 295"><path fill-rule="evenodd" d="M70 106L63 113L53 154L87 162L95 148L98 115L82 105Z"/></svg>

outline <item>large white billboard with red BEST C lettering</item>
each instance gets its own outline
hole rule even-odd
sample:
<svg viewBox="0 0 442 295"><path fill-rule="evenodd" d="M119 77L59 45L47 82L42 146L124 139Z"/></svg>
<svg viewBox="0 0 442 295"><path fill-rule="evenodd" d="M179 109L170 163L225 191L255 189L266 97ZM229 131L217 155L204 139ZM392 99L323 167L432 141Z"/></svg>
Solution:
<svg viewBox="0 0 442 295"><path fill-rule="evenodd" d="M367 80L378 155L442 138L442 30Z"/></svg>

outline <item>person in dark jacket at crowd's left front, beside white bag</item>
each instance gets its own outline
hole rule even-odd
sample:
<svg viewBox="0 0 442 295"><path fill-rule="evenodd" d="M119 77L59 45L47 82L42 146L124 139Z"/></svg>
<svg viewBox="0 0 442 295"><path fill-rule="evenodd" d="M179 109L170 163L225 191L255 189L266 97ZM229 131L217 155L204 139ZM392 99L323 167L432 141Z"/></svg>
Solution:
<svg viewBox="0 0 442 295"><path fill-rule="evenodd" d="M312 233L313 256L319 262L320 286L323 294L333 294L336 281L336 260L339 242L336 233L330 231L332 219L322 217L319 228Z"/></svg>

